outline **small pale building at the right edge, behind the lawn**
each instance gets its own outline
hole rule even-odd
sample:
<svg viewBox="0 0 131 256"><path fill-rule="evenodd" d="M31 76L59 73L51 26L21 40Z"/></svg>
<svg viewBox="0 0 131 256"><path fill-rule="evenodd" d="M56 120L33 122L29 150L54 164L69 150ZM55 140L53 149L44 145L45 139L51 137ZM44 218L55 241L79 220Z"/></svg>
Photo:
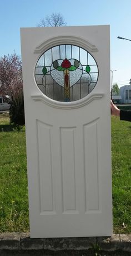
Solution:
<svg viewBox="0 0 131 256"><path fill-rule="evenodd" d="M120 96L122 96L120 103L131 104L131 85L124 85L120 87Z"/></svg>

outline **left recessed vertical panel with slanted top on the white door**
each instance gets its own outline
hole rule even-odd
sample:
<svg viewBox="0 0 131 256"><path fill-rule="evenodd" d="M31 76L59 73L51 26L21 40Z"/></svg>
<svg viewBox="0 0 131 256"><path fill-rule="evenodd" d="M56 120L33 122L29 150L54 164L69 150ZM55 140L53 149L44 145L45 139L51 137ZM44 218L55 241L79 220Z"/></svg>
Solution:
<svg viewBox="0 0 131 256"><path fill-rule="evenodd" d="M51 129L51 125L44 124L37 120L40 212L44 214L55 214L52 178Z"/></svg>

